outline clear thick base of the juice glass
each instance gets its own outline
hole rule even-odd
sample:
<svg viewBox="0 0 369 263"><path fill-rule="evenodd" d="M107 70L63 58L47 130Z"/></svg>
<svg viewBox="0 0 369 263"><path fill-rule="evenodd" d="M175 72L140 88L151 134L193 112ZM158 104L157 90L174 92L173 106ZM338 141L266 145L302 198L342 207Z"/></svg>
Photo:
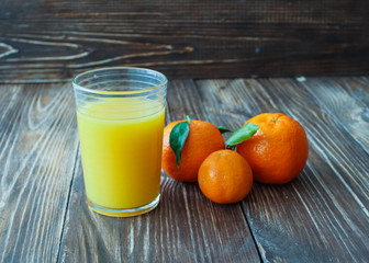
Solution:
<svg viewBox="0 0 369 263"><path fill-rule="evenodd" d="M104 216L110 216L110 217L132 217L132 216L138 216L142 214L145 214L147 211L153 210L160 201L160 194L149 204L139 206L139 207L134 207L134 208L126 208L126 209L112 209L112 208L107 208L107 207L101 207L92 202L90 202L87 198L87 204L90 207L91 210L104 215Z"/></svg>

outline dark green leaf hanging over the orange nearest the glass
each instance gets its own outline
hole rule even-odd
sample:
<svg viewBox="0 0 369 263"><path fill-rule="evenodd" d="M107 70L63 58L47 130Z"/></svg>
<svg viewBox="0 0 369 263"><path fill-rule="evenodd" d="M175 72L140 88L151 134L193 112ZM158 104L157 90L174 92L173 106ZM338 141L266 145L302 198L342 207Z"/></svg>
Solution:
<svg viewBox="0 0 369 263"><path fill-rule="evenodd" d="M178 168L181 159L182 148L189 133L190 133L189 122L181 122L179 124L176 124L176 126L171 129L169 135L170 148L175 152L176 164Z"/></svg>

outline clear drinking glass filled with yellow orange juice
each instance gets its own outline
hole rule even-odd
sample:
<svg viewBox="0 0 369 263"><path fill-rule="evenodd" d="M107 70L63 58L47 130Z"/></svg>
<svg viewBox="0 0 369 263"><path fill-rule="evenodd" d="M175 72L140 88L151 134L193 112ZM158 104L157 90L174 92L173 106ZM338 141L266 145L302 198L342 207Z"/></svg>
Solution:
<svg viewBox="0 0 369 263"><path fill-rule="evenodd" d="M167 78L114 67L72 80L87 203L107 216L154 209L160 199Z"/></svg>

